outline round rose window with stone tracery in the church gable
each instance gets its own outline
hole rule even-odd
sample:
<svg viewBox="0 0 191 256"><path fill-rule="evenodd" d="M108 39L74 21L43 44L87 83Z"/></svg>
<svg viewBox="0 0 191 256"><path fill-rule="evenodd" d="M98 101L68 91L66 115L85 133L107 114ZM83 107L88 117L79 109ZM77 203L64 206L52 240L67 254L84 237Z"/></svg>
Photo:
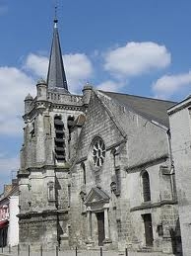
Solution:
<svg viewBox="0 0 191 256"><path fill-rule="evenodd" d="M97 138L93 144L93 160L96 167L100 167L103 164L105 157L105 145L101 138Z"/></svg>

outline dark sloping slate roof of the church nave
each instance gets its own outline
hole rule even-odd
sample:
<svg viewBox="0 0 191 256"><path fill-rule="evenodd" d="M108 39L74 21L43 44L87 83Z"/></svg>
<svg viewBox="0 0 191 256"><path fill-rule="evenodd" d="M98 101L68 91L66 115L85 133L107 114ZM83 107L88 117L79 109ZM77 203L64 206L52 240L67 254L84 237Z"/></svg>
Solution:
<svg viewBox="0 0 191 256"><path fill-rule="evenodd" d="M175 105L176 102L114 92L101 91L101 93L104 93L120 105L143 116L147 120L156 121L166 128L169 127L167 109Z"/></svg>

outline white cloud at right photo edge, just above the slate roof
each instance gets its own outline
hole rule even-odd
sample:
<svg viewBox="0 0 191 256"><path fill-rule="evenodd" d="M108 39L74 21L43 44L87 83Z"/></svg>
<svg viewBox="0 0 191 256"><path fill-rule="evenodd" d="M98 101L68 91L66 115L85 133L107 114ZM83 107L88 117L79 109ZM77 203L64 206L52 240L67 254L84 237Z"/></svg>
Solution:
<svg viewBox="0 0 191 256"><path fill-rule="evenodd" d="M191 87L191 71L178 75L164 75L153 85L153 91L158 98L169 98L185 87Z"/></svg>

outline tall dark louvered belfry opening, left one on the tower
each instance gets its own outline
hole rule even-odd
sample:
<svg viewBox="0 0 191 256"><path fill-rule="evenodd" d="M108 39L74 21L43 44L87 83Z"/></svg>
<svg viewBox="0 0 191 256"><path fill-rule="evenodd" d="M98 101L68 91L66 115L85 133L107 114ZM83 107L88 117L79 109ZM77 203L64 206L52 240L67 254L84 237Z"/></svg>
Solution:
<svg viewBox="0 0 191 256"><path fill-rule="evenodd" d="M54 118L54 128L55 128L55 158L57 161L65 161L65 132L64 123L60 116Z"/></svg>

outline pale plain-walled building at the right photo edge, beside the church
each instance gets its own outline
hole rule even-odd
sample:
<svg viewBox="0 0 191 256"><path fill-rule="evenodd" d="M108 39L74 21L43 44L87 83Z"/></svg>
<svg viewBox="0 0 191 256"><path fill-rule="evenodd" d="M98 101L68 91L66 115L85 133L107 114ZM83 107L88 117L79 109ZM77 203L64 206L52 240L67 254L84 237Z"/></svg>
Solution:
<svg viewBox="0 0 191 256"><path fill-rule="evenodd" d="M183 255L191 255L191 97L168 110Z"/></svg>

